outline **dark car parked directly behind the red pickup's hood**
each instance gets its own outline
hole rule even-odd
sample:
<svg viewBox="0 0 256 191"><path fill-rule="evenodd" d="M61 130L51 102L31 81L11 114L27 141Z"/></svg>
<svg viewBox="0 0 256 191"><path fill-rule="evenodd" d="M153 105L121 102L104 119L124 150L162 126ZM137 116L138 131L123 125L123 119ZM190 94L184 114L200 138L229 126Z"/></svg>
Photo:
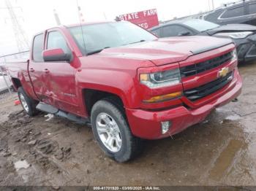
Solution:
<svg viewBox="0 0 256 191"><path fill-rule="evenodd" d="M219 26L206 20L189 19L173 20L150 28L149 31L160 38L193 35L231 38L236 44L239 61L256 60L256 26L246 24Z"/></svg>

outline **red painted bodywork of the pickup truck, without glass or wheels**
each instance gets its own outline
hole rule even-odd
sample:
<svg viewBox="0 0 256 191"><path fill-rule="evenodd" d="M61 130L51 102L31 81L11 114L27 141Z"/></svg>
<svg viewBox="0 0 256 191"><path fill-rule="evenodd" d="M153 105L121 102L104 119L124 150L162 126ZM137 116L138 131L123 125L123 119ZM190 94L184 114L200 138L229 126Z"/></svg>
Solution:
<svg viewBox="0 0 256 191"><path fill-rule="evenodd" d="M86 89L113 93L124 103L132 133L144 139L161 139L178 133L202 121L212 109L227 104L241 93L237 61L230 61L225 66L234 71L233 81L205 98L192 102L182 96L155 104L143 102L155 95L187 90L216 79L221 67L182 78L181 83L173 87L151 90L140 84L138 76L140 73L176 69L206 61L235 49L230 41L224 47L192 55L192 51L202 46L212 47L224 40L229 41L227 39L204 36L165 38L108 48L94 55L83 56L64 27L45 31L45 49L49 31L60 31L63 34L73 54L72 62L37 63L30 59L29 63L10 63L8 70L11 76L20 79L31 98L81 117L89 117L84 97ZM173 125L170 132L162 135L160 122L165 120L170 120Z"/></svg>

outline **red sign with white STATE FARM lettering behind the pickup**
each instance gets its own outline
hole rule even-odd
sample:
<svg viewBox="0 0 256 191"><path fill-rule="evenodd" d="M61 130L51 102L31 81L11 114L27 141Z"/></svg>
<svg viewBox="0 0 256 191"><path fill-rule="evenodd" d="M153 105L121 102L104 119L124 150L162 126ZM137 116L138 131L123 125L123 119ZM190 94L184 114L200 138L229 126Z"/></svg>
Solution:
<svg viewBox="0 0 256 191"><path fill-rule="evenodd" d="M141 12L132 12L124 15L120 15L121 20L127 20L131 23L135 23L145 29L153 26L158 26L159 21L157 17L157 9L148 9Z"/></svg>

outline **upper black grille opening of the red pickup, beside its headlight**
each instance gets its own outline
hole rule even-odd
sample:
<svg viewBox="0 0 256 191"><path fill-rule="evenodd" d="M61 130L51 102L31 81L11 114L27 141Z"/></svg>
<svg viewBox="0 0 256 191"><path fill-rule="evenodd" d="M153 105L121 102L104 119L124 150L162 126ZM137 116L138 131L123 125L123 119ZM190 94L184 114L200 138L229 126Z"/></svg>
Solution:
<svg viewBox="0 0 256 191"><path fill-rule="evenodd" d="M212 58L211 60L204 61L201 63L195 63L189 66L181 67L181 77L190 77L195 74L199 74L203 71L214 69L232 58L232 52L228 52L225 55L221 55L217 58Z"/></svg>

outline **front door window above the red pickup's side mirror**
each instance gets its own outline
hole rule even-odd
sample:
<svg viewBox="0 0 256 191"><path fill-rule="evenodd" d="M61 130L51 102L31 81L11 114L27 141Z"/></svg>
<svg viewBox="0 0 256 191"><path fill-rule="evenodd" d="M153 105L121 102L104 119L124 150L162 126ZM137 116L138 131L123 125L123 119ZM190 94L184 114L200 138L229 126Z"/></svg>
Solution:
<svg viewBox="0 0 256 191"><path fill-rule="evenodd" d="M61 48L65 53L69 53L69 47L64 36L59 31L52 31L48 34L47 49Z"/></svg>

